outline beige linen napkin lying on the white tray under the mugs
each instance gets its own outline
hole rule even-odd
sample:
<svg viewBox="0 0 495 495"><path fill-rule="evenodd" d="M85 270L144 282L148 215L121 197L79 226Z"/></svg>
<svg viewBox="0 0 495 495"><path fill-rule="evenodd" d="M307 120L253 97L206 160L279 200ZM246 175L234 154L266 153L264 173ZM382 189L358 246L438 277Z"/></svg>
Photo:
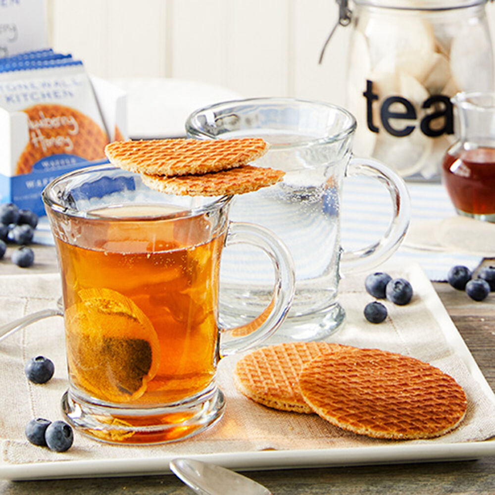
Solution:
<svg viewBox="0 0 495 495"><path fill-rule="evenodd" d="M385 267L386 268L386 267ZM333 427L316 415L279 412L256 404L238 393L232 369L239 356L220 362L218 384L226 396L223 418L211 429L186 441L159 446L102 444L78 433L64 453L30 445L24 427L34 417L62 419L60 397L67 388L63 320L51 317L32 324L0 342L0 442L1 465L95 459L160 458L166 455L257 451L261 449L321 449L329 447L391 444L459 443L485 440L495 435L495 397L424 273L416 266L389 270L403 276L414 289L407 306L386 302L389 318L373 325L363 317L372 298L364 291L364 275L344 279L340 301L347 312L344 327L329 339L357 347L401 352L430 362L453 376L468 397L462 424L438 439L392 442L371 439ZM57 275L4 276L0 284L0 324L29 312L54 307L60 294ZM24 363L46 355L55 364L54 377L44 385L28 382Z"/></svg>

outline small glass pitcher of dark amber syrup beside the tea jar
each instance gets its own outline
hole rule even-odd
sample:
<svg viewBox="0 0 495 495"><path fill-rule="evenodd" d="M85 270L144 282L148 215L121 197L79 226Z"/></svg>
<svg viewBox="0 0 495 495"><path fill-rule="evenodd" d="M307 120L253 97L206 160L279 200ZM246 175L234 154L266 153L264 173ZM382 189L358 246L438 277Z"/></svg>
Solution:
<svg viewBox="0 0 495 495"><path fill-rule="evenodd" d="M456 142L442 177L460 215L495 222L495 93L464 92L451 99Z"/></svg>

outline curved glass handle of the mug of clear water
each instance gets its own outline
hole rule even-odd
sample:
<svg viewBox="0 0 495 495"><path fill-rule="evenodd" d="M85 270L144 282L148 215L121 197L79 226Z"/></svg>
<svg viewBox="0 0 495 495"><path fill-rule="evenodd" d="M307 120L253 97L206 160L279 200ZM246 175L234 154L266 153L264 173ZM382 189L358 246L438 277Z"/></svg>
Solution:
<svg viewBox="0 0 495 495"><path fill-rule="evenodd" d="M370 270L386 261L400 246L411 218L411 200L402 180L393 170L371 158L352 158L346 176L373 177L385 185L393 206L392 220L387 231L376 243L355 251L344 251L341 257L343 273Z"/></svg>

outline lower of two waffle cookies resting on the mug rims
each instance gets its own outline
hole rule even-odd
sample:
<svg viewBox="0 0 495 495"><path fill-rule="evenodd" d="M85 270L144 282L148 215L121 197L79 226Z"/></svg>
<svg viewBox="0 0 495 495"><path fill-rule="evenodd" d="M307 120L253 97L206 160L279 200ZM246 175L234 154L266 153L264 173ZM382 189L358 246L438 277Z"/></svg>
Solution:
<svg viewBox="0 0 495 495"><path fill-rule="evenodd" d="M143 183L155 191L179 196L223 196L252 193L282 180L285 172L272 168L241 165L240 167L201 175L141 174Z"/></svg>

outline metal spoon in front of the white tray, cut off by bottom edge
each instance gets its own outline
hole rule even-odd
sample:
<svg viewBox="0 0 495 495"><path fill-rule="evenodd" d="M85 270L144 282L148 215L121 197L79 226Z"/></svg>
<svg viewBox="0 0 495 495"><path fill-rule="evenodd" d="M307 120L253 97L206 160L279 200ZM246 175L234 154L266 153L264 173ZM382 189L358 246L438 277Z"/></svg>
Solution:
<svg viewBox="0 0 495 495"><path fill-rule="evenodd" d="M194 459L173 459L171 471L199 495L272 495L264 486L231 471Z"/></svg>

